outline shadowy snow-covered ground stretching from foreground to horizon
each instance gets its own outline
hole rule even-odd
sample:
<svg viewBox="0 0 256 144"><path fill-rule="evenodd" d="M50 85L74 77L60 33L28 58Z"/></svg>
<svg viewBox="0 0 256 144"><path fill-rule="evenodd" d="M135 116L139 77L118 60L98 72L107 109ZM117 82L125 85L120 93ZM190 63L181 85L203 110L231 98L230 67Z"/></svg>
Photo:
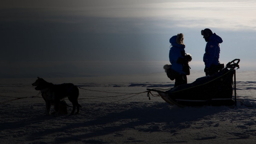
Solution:
<svg viewBox="0 0 256 144"><path fill-rule="evenodd" d="M142 93L147 88L173 87L174 81L164 72L44 78L82 88L80 114L58 117L44 115L41 95L31 98L38 94L31 85L36 78L0 79L0 144L252 144L256 141L255 74L237 70L238 98L250 106L185 108L169 105L161 97L149 100ZM188 81L202 76L202 71L192 71ZM7 100L13 101L2 103Z"/></svg>

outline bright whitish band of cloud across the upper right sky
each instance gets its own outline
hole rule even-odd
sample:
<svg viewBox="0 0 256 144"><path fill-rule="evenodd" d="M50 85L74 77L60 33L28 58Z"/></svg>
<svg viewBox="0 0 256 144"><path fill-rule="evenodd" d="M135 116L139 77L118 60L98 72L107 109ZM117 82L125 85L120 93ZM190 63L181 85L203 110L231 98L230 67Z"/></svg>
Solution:
<svg viewBox="0 0 256 144"><path fill-rule="evenodd" d="M87 8L84 14L92 17L157 18L165 21L159 24L165 28L200 28L207 25L225 30L256 30L255 13L256 1L223 1L98 6ZM170 21L174 24L166 24Z"/></svg>

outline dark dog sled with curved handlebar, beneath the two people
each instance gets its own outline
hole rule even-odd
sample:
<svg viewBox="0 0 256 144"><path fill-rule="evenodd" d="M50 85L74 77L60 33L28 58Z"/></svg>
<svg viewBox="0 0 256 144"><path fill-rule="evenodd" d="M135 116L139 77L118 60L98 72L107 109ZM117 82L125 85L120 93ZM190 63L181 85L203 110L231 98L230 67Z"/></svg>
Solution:
<svg viewBox="0 0 256 144"><path fill-rule="evenodd" d="M221 71L211 76L197 78L193 83L179 85L167 91L147 89L157 92L163 100L171 105L236 105L236 74L239 59L234 59ZM233 98L234 86L234 98Z"/></svg>

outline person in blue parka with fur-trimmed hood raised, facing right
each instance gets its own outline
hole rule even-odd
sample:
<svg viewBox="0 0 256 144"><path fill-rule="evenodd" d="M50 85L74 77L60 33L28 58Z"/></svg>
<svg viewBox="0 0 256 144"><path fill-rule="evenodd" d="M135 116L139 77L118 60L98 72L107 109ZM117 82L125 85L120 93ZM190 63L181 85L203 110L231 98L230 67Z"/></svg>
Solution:
<svg viewBox="0 0 256 144"><path fill-rule="evenodd" d="M176 73L174 86L187 83L186 72L184 72L184 62L186 60L185 60L185 50L184 50L185 44L183 43L183 40L184 40L184 36L182 33L178 33L178 35L174 35L169 40L169 42L172 44L172 47L170 48L170 51L169 51L169 60L170 60L170 63L172 64L171 69Z"/></svg>

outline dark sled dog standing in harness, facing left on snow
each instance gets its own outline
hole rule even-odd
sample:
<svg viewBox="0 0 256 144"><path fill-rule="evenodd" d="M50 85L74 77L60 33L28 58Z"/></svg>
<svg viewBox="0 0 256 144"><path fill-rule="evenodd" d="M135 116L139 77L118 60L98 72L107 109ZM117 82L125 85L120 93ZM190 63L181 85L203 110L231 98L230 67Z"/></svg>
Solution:
<svg viewBox="0 0 256 144"><path fill-rule="evenodd" d="M55 115L58 116L61 101L66 97L70 102L72 102L73 106L70 115L74 115L76 108L77 112L75 114L79 114L81 105L78 104L79 89L77 86L73 83L53 84L46 82L43 78L37 78L38 79L32 83L32 85L36 86L35 90L40 90L42 93L42 97L46 104L46 115L50 115L50 106L54 105Z"/></svg>

